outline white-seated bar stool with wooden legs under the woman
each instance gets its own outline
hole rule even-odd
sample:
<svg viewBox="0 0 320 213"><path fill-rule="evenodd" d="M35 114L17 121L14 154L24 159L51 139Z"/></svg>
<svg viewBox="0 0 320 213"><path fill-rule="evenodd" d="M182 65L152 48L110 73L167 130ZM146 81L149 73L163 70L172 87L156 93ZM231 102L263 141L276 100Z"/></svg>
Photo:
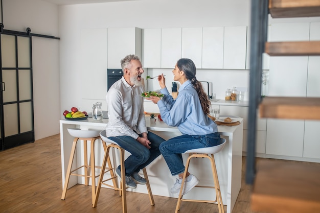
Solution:
<svg viewBox="0 0 320 213"><path fill-rule="evenodd" d="M214 186L201 186L201 185L196 185L195 187L202 187L202 188L215 188L216 191L216 199L215 200L190 200L190 199L182 199L182 190L183 187L180 188L180 193L179 193L179 197L178 197L178 202L177 202L177 206L175 209L175 213L178 212L178 210L180 210L180 205L181 205L181 201L188 201L188 202L205 202L205 203L217 203L218 204L218 209L219 209L219 213L224 213L224 208L223 208L223 203L222 203L222 197L221 197L221 191L220 191L220 185L219 185L219 180L218 180L218 174L217 174L217 168L216 168L216 163L215 163L215 159L214 159L214 154L220 152L223 147L226 144L226 139L221 138L220 139L221 144L218 146L214 146L214 147L207 147L207 148L199 148L199 149L191 149L191 150L187 150L185 153L189 153L189 157L187 159L187 164L186 164L186 168L185 168L185 173L184 173L184 177L182 178L182 183L181 185L183 186L185 184L185 179L186 179L186 175L188 172L188 168L189 168L189 163L190 163L190 159L193 157L199 157L199 158L208 158L211 162L211 169L212 169L212 175L213 175L213 181L214 181ZM184 153L184 154L185 154Z"/></svg>

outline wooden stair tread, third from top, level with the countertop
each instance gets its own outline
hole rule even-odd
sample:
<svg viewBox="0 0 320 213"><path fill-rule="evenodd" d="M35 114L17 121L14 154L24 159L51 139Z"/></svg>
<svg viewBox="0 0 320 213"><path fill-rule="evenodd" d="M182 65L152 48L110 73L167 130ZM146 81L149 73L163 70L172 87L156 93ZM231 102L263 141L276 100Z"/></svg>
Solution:
<svg viewBox="0 0 320 213"><path fill-rule="evenodd" d="M265 97L259 111L260 117L320 120L320 98Z"/></svg>

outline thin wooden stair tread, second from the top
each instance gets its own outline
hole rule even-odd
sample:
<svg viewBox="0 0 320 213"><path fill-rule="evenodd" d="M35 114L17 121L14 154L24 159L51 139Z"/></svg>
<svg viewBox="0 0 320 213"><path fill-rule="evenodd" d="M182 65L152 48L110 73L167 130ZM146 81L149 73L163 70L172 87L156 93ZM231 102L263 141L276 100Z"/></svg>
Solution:
<svg viewBox="0 0 320 213"><path fill-rule="evenodd" d="M265 52L270 56L319 56L320 41L266 42Z"/></svg>

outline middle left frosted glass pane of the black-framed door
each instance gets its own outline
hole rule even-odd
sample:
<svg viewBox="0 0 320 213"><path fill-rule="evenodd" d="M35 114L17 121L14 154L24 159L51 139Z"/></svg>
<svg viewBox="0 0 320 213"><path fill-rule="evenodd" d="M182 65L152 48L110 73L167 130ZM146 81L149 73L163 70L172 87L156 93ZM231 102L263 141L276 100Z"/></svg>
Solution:
<svg viewBox="0 0 320 213"><path fill-rule="evenodd" d="M4 103L17 101L17 77L16 70L2 70L2 81L4 82L3 99Z"/></svg>

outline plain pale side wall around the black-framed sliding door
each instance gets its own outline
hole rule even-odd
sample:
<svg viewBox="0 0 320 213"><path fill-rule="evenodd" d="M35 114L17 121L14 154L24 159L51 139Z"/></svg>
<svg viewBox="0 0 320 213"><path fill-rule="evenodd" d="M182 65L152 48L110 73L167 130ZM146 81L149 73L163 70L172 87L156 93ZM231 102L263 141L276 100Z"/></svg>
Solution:
<svg viewBox="0 0 320 213"><path fill-rule="evenodd" d="M40 0L3 0L5 30L59 37L58 6ZM35 139L59 133L59 40L32 37Z"/></svg>

